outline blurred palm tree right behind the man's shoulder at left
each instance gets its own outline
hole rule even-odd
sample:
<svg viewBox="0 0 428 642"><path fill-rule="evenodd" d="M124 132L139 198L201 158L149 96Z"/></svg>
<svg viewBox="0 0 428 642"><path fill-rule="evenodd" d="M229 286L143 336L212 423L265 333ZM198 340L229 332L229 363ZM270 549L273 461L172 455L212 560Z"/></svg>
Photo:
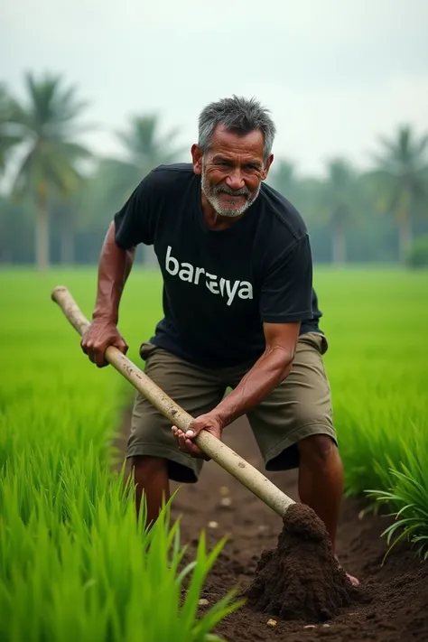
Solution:
<svg viewBox="0 0 428 642"><path fill-rule="evenodd" d="M110 177L106 197L108 202L123 203L135 186L157 165L174 163L182 153L175 139L178 129L159 135L159 116L133 116L126 131L116 136L123 147L124 159L105 159L100 172ZM144 263L156 264L152 247L144 247Z"/></svg>

